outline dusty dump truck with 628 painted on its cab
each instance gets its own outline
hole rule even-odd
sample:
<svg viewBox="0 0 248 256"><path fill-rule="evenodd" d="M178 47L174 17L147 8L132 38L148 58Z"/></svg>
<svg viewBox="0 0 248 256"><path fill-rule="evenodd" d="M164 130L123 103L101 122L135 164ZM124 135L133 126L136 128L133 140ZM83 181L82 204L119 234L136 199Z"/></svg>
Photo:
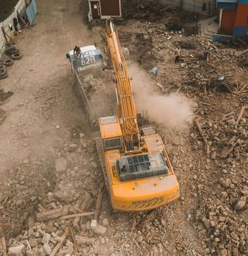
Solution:
<svg viewBox="0 0 248 256"><path fill-rule="evenodd" d="M112 72L103 71L102 52L95 46L81 47L79 57L75 57L73 50L68 56L78 95L85 106L91 126L94 127L100 116L115 113L116 97Z"/></svg>

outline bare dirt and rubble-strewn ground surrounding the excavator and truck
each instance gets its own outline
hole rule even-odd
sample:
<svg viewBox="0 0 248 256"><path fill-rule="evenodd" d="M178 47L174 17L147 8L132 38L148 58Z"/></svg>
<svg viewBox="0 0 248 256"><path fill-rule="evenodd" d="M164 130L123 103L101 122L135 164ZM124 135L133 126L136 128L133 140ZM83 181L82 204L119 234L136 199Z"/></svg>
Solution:
<svg viewBox="0 0 248 256"><path fill-rule="evenodd" d="M23 58L0 81L2 92L13 92L0 106L6 113L0 122L0 237L7 249L21 245L14 255L26 255L30 245L46 255L44 244L53 250L71 227L57 255L248 255L248 71L246 55L238 57L244 48L172 32L167 18L129 19L118 27L138 112L144 110L164 138L180 199L149 212L113 213L104 189L97 230L91 230L91 216L77 223L36 220L48 210L78 213L86 198L84 211L95 210L102 171L65 54L75 45L104 49L98 33L104 26L88 29L86 1L36 4L36 25L15 37ZM178 45L184 63L174 64ZM202 61L204 50L209 61ZM156 77L152 67L158 67ZM212 79L217 75L224 76L221 85ZM191 102L186 128L157 119L168 110L153 109L160 114L154 117L145 102L143 109L135 82L146 87L146 96L174 94ZM47 243L44 234L50 234Z"/></svg>

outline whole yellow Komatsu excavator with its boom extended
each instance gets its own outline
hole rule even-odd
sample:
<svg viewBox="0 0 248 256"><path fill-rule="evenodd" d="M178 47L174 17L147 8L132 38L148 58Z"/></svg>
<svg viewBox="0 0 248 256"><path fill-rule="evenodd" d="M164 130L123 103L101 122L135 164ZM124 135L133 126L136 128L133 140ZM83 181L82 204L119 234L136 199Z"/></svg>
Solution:
<svg viewBox="0 0 248 256"><path fill-rule="evenodd" d="M139 128L131 79L112 20L105 39L116 78L115 115L98 119L96 139L112 208L143 211L179 197L177 178L160 135L152 127Z"/></svg>

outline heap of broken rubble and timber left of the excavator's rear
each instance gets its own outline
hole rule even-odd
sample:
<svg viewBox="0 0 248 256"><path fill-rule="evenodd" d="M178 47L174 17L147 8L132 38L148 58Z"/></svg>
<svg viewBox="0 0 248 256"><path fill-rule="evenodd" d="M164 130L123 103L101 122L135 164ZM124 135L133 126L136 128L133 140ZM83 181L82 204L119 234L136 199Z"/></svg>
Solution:
<svg viewBox="0 0 248 256"><path fill-rule="evenodd" d="M96 252L108 241L108 219L101 213L103 182L93 180L98 164L88 157L88 166L79 157L82 152L92 156L94 146L88 147L89 140L82 137L81 143L74 138L67 144L64 157L53 166L33 158L9 170L9 182L1 182L0 237L5 246L0 244L0 254L89 255L93 244ZM78 161L93 171L85 176L77 166L71 168Z"/></svg>

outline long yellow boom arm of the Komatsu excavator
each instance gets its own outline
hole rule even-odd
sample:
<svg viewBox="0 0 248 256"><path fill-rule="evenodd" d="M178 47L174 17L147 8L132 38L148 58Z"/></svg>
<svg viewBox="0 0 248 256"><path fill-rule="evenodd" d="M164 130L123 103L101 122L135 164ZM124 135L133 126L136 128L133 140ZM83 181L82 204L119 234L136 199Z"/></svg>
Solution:
<svg viewBox="0 0 248 256"><path fill-rule="evenodd" d="M119 119L121 120L122 134L126 141L126 149L133 150L133 144L139 138L139 128L136 119L136 107L133 99L133 90L126 61L119 43L119 37L111 20L107 21L106 39L108 50L117 80L117 94L119 101Z"/></svg>

